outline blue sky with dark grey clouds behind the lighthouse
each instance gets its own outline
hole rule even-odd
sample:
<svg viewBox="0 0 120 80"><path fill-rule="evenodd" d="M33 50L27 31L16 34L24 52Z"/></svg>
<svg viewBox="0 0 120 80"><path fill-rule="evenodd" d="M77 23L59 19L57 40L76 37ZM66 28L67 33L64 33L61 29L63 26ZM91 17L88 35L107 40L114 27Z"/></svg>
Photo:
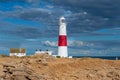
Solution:
<svg viewBox="0 0 120 80"><path fill-rule="evenodd" d="M120 56L119 0L0 0L0 54L9 48L57 53L59 18L69 55Z"/></svg>

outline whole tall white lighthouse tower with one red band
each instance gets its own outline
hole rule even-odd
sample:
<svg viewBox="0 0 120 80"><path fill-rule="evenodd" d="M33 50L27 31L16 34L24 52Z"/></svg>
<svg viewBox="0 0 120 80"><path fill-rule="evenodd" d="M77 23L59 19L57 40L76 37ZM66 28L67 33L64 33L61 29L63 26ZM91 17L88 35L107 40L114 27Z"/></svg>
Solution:
<svg viewBox="0 0 120 80"><path fill-rule="evenodd" d="M58 56L68 57L67 31L66 31L65 18L61 17L59 21L60 21L60 26L59 26L59 39L58 39Z"/></svg>

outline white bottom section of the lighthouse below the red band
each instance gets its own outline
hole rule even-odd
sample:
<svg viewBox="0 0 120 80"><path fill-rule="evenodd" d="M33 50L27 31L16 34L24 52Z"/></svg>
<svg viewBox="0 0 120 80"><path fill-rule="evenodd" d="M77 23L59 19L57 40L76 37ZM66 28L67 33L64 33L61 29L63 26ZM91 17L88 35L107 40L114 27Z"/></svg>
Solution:
<svg viewBox="0 0 120 80"><path fill-rule="evenodd" d="M67 46L59 46L58 47L58 56L60 56L60 57L68 57Z"/></svg>

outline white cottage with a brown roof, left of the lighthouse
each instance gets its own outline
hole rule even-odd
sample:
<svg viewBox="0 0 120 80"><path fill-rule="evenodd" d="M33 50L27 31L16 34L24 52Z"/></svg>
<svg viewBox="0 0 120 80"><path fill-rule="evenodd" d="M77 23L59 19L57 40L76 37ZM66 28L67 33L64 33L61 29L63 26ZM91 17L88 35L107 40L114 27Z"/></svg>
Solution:
<svg viewBox="0 0 120 80"><path fill-rule="evenodd" d="M26 49L25 48L11 48L10 49L10 56L26 56Z"/></svg>

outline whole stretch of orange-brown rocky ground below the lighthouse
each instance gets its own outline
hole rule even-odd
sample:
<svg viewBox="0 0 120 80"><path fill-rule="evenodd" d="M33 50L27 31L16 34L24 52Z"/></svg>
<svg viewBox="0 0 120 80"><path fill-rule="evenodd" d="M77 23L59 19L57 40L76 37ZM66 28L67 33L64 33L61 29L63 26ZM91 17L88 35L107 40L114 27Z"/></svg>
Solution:
<svg viewBox="0 0 120 80"><path fill-rule="evenodd" d="M0 57L0 80L120 80L120 60Z"/></svg>

